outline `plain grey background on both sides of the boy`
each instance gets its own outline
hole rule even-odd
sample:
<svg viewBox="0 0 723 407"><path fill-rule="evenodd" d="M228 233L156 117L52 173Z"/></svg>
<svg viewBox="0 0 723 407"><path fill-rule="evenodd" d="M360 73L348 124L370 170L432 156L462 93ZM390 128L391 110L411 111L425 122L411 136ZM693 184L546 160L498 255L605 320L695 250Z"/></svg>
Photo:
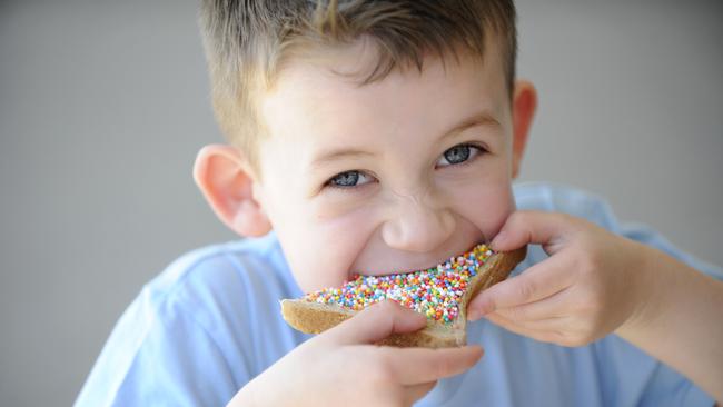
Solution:
<svg viewBox="0 0 723 407"><path fill-rule="evenodd" d="M523 180L608 198L723 265L723 7L518 2L541 93ZM70 404L142 284L234 238L190 177L220 141L195 1L0 2L0 404Z"/></svg>

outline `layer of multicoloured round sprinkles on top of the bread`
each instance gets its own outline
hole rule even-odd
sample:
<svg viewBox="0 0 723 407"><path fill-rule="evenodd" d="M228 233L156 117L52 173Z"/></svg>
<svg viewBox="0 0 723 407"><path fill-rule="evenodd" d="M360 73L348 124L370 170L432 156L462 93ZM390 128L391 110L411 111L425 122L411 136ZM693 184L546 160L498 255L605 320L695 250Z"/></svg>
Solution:
<svg viewBox="0 0 723 407"><path fill-rule="evenodd" d="M437 267L388 276L355 275L341 288L326 288L307 294L308 301L337 304L361 310L385 299L394 300L427 318L450 322L459 315L459 300L469 279L492 256L485 245L477 245Z"/></svg>

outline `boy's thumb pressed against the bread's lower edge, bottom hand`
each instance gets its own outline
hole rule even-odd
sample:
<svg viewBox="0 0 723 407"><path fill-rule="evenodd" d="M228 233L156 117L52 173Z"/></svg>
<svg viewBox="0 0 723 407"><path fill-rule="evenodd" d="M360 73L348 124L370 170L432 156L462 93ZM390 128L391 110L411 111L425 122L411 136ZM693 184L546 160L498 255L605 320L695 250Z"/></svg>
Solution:
<svg viewBox="0 0 723 407"><path fill-rule="evenodd" d="M392 334L408 334L427 325L427 318L393 300L375 304L329 330L339 344L375 344Z"/></svg>

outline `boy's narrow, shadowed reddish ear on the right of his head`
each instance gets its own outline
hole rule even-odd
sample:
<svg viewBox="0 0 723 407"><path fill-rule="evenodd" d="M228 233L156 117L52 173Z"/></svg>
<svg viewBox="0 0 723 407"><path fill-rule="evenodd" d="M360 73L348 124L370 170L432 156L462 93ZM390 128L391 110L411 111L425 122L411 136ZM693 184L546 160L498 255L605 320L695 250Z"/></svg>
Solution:
<svg viewBox="0 0 723 407"><path fill-rule="evenodd" d="M512 178L517 178L519 175L535 110L537 110L535 86L527 80L516 80L512 100Z"/></svg>

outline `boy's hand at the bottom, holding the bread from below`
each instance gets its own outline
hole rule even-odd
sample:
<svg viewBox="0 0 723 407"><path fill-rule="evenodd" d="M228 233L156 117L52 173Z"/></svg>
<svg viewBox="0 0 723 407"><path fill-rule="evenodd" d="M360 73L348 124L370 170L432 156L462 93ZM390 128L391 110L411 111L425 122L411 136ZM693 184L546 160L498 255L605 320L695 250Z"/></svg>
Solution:
<svg viewBox="0 0 723 407"><path fill-rule="evenodd" d="M482 348L376 346L426 318L384 301L309 339L244 387L229 406L408 406L436 381L471 368Z"/></svg>

